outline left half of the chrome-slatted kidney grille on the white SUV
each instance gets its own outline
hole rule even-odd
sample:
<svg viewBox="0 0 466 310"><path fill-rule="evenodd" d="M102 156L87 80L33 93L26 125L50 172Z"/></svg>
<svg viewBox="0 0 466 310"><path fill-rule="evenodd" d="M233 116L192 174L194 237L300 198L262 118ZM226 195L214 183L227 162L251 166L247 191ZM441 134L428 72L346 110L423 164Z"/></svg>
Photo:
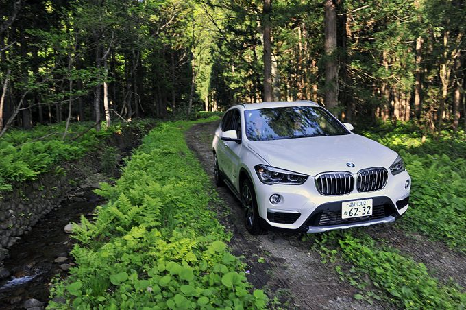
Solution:
<svg viewBox="0 0 466 310"><path fill-rule="evenodd" d="M354 189L354 178L348 172L330 172L317 176L316 185L322 195L346 195Z"/></svg>

